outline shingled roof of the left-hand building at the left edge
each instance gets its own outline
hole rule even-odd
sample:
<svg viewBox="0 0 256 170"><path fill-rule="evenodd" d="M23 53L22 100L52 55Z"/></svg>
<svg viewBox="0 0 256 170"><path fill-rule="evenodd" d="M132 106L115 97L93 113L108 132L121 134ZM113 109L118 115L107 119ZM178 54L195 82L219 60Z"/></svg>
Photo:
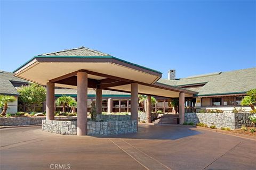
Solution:
<svg viewBox="0 0 256 170"><path fill-rule="evenodd" d="M14 74L11 72L0 71L0 94L1 95L19 95L19 92L11 82L28 83L27 80L14 77Z"/></svg>

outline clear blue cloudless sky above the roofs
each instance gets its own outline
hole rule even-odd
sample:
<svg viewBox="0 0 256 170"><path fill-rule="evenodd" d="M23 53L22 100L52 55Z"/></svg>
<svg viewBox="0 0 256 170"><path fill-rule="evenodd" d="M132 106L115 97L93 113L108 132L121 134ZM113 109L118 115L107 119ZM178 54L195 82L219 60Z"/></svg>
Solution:
<svg viewBox="0 0 256 170"><path fill-rule="evenodd" d="M256 66L255 1L0 1L1 70L80 46L163 78Z"/></svg>

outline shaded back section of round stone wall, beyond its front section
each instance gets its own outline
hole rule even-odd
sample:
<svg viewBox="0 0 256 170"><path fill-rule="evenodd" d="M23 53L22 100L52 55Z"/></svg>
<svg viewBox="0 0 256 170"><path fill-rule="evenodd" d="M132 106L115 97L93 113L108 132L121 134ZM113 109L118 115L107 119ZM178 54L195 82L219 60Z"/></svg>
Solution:
<svg viewBox="0 0 256 170"><path fill-rule="evenodd" d="M96 121L130 121L131 115L99 115L96 116Z"/></svg>

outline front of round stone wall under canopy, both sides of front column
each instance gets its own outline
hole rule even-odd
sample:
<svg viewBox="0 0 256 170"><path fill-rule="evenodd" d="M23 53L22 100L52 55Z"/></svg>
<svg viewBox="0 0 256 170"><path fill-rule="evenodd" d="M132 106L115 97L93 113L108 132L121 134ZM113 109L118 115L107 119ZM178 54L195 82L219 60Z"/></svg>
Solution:
<svg viewBox="0 0 256 170"><path fill-rule="evenodd" d="M42 130L76 135L76 121L43 120ZM110 135L137 132L137 121L87 122L87 135Z"/></svg>

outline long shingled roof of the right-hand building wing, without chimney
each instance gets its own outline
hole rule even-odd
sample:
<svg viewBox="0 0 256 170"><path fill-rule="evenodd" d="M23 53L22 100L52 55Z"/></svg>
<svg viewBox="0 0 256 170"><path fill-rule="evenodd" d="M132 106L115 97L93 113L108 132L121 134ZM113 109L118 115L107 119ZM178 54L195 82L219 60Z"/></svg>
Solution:
<svg viewBox="0 0 256 170"><path fill-rule="evenodd" d="M179 80L160 79L158 82L172 86L206 83L203 87L187 88L197 91L197 96L236 94L256 88L256 67L229 72L196 75Z"/></svg>

